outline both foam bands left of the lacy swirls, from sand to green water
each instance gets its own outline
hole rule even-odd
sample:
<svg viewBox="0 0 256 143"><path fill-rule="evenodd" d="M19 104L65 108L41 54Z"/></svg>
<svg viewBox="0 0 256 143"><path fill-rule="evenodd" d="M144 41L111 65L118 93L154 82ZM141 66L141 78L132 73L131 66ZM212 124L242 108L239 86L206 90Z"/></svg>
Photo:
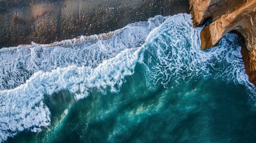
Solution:
<svg viewBox="0 0 256 143"><path fill-rule="evenodd" d="M79 100L92 88L118 91L124 76L134 72L138 48L165 18L128 24L109 36L1 49L0 142L24 129L38 132L50 125L45 95L67 89Z"/></svg>

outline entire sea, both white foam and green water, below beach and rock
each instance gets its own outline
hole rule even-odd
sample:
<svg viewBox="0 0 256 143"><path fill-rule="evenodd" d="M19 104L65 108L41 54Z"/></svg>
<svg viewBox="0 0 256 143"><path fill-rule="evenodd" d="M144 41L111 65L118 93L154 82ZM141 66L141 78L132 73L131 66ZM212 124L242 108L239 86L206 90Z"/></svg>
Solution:
<svg viewBox="0 0 256 143"><path fill-rule="evenodd" d="M190 18L0 49L0 142L255 142L241 42Z"/></svg>

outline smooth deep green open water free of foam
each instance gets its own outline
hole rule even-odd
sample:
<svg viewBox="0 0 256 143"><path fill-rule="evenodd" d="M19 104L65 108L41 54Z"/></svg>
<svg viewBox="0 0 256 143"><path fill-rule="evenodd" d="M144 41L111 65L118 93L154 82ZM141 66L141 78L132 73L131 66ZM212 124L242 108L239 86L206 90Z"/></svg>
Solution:
<svg viewBox="0 0 256 143"><path fill-rule="evenodd" d="M149 90L142 76L137 66L119 94L93 91L78 102L66 92L56 94L49 105L52 125L8 142L255 141L256 113L243 86L209 78Z"/></svg>

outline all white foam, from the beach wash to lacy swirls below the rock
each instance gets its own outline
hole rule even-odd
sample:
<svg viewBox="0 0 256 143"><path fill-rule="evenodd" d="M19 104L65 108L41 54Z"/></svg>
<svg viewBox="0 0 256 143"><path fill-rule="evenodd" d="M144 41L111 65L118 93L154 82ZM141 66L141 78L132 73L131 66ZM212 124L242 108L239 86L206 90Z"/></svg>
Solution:
<svg viewBox="0 0 256 143"><path fill-rule="evenodd" d="M237 36L229 33L215 48L201 51L201 29L192 27L189 14L158 15L115 32L1 49L0 142L23 130L40 132L50 126L45 98L63 90L76 100L93 89L118 93L136 66L150 90L211 77L246 86L254 98Z"/></svg>

